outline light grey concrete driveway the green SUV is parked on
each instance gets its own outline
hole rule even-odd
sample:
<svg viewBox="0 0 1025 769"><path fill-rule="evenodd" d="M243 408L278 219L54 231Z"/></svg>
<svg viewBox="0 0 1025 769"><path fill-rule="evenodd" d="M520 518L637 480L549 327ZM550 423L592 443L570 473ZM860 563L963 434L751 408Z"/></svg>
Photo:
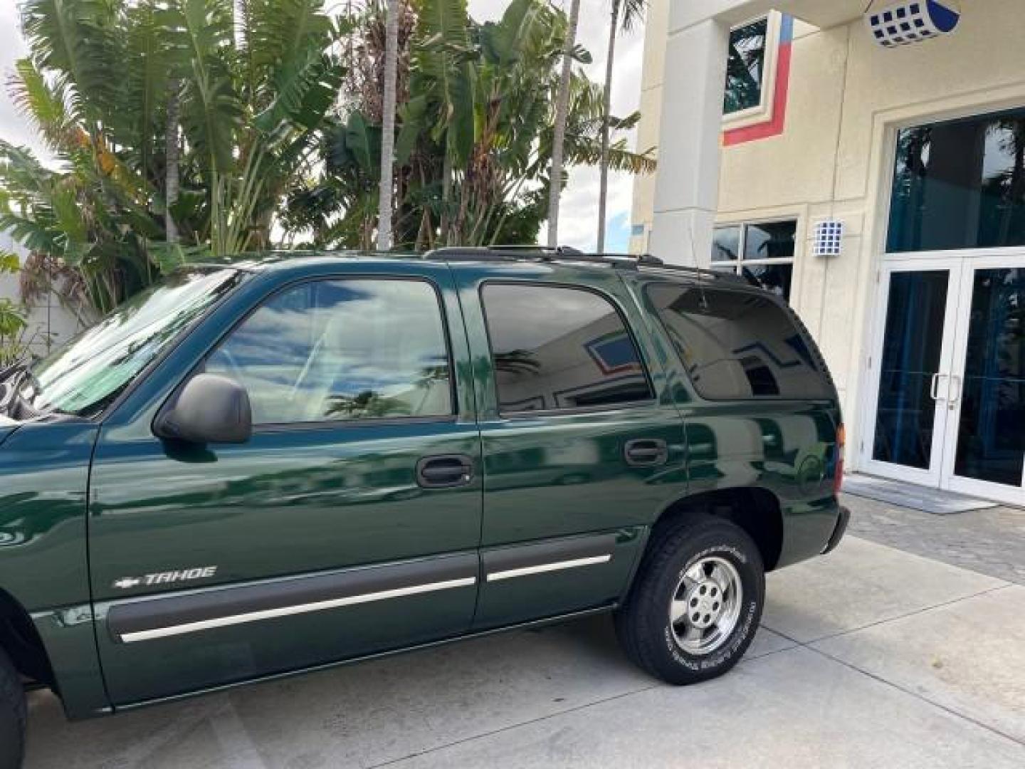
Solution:
<svg viewBox="0 0 1025 769"><path fill-rule="evenodd" d="M1025 766L1025 586L848 537L763 624L688 688L593 617L77 724L36 694L28 767Z"/></svg>

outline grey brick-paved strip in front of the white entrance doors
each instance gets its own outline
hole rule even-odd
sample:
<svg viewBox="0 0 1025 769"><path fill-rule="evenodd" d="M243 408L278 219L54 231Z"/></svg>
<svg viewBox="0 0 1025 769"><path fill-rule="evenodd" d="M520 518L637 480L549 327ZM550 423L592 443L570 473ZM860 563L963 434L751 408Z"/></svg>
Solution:
<svg viewBox="0 0 1025 769"><path fill-rule="evenodd" d="M844 494L849 531L873 542L1025 584L1025 510L990 508L934 516Z"/></svg>

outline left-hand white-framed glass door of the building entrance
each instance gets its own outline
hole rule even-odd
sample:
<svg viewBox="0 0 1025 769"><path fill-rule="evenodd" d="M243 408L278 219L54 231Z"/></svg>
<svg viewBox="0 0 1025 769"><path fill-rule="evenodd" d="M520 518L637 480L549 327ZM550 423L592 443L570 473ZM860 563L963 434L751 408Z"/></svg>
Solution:
<svg viewBox="0 0 1025 769"><path fill-rule="evenodd" d="M862 464L940 486L960 301L960 258L888 261L879 276Z"/></svg>

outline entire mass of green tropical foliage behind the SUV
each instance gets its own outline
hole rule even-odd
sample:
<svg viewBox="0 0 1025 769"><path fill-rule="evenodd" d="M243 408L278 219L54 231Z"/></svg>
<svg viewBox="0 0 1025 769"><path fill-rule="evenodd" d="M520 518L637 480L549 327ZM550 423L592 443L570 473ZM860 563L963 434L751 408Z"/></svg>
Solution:
<svg viewBox="0 0 1025 769"><path fill-rule="evenodd" d="M371 246L380 0L20 5L29 55L10 90L57 160L0 139L0 230L40 270L30 293L59 276L104 312L180 264L269 248L273 232ZM396 243L536 241L565 14L512 0L479 24L466 0L401 5ZM579 46L574 57L590 60ZM601 113L598 86L575 74L570 164L599 162ZM613 146L615 168L652 164Z"/></svg>

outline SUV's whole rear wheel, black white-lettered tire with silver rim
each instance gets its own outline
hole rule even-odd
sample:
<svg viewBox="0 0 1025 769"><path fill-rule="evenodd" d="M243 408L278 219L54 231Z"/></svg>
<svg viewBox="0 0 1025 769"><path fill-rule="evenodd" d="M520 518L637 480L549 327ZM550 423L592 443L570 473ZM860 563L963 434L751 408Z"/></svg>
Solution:
<svg viewBox="0 0 1025 769"><path fill-rule="evenodd" d="M670 524L648 545L616 633L652 676L683 685L722 676L754 638L765 603L762 555L730 521Z"/></svg>

